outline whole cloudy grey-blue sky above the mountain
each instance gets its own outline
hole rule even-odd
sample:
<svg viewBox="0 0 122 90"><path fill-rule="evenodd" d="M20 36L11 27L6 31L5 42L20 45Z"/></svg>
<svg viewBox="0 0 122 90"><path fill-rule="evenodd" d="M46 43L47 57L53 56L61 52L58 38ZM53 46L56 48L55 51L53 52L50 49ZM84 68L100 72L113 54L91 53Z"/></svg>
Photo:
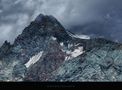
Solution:
<svg viewBox="0 0 122 90"><path fill-rule="evenodd" d="M99 22L103 29L83 32L122 40L122 0L0 0L0 45L13 42L40 13L55 16L68 29L89 24L96 29L98 23L91 23Z"/></svg>

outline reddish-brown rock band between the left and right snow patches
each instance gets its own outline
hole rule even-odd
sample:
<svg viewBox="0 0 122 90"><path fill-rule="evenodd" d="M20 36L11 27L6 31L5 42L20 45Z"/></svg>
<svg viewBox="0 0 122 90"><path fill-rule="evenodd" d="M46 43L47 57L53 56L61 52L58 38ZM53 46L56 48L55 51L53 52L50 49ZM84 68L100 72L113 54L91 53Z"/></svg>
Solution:
<svg viewBox="0 0 122 90"><path fill-rule="evenodd" d="M39 61L28 68L25 80L48 81L51 73L65 60L66 54L62 52L57 41L50 39L47 43L48 46Z"/></svg>

